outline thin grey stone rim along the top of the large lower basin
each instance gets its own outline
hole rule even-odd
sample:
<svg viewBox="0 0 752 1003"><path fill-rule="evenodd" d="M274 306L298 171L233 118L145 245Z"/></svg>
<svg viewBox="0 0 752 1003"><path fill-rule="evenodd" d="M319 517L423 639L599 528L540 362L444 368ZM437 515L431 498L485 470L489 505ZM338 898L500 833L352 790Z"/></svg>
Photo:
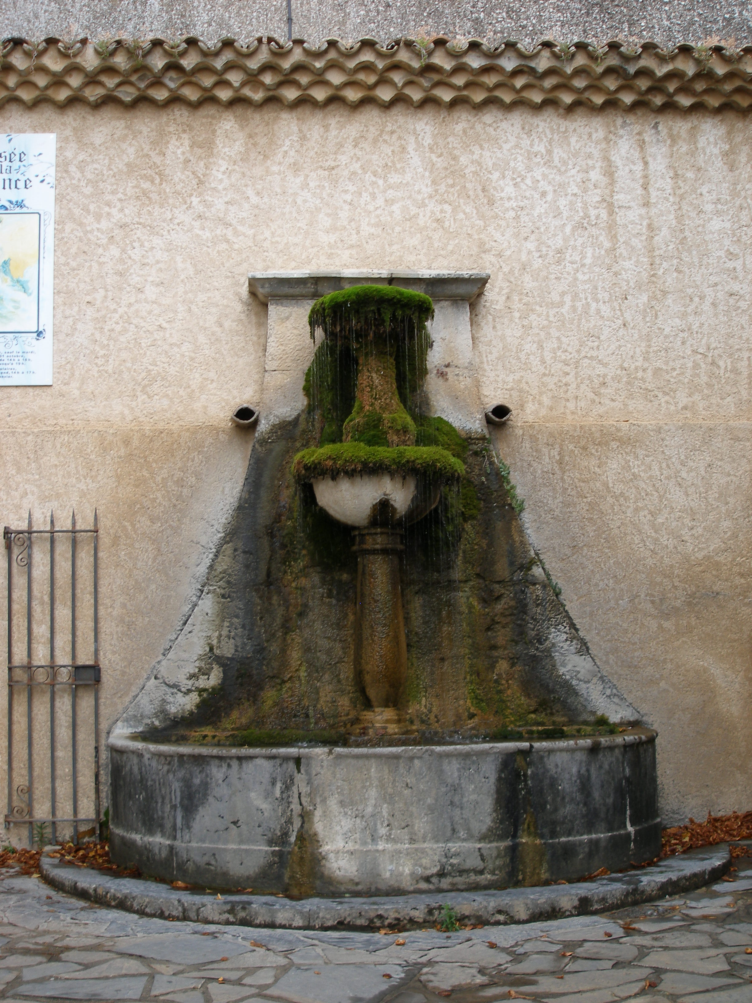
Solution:
<svg viewBox="0 0 752 1003"><path fill-rule="evenodd" d="M417 758L423 755L479 755L498 752L575 752L584 748L614 748L620 745L637 745L655 741L658 732L653 728L634 727L618 735L583 735L582 738L540 738L535 741L477 741L456 742L445 745L194 745L190 742L144 741L133 734L110 735L107 744L119 752L140 750L153 755L177 756L241 756L250 758L297 759L323 758L324 756L377 756L383 758Z"/></svg>

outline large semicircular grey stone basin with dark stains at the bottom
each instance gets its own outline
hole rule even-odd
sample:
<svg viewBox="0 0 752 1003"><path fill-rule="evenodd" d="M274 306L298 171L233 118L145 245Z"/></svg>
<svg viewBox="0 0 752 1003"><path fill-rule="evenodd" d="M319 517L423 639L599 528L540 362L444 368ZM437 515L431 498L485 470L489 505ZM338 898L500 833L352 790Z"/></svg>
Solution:
<svg viewBox="0 0 752 1003"><path fill-rule="evenodd" d="M110 739L110 853L288 895L572 881L658 856L654 731L387 748Z"/></svg>

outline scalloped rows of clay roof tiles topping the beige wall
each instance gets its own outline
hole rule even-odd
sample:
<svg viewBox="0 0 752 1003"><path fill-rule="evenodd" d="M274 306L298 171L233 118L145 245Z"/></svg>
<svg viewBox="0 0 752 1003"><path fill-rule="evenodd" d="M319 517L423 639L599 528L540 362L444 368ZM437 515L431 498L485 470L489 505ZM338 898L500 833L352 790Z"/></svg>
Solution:
<svg viewBox="0 0 752 1003"><path fill-rule="evenodd" d="M71 101L130 105L203 101L230 104L341 100L412 106L434 101L473 107L545 102L568 108L736 108L752 106L752 46L653 43L596 48L546 42L527 52L515 43L490 48L479 41L402 39L388 46L364 39L314 47L257 39L208 46L194 38L8 39L0 59L0 104Z"/></svg>

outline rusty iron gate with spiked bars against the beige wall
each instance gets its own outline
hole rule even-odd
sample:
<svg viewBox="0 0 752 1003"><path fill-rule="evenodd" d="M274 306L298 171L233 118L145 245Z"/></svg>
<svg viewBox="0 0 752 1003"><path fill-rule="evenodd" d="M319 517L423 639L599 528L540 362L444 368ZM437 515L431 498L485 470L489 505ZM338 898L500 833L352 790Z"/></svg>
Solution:
<svg viewBox="0 0 752 1003"><path fill-rule="evenodd" d="M34 530L29 512L26 529L6 526L3 531L8 557L5 828L27 824L29 846L35 834L37 842L44 834L52 843L61 837L73 843L82 835L99 839L98 532L96 510L90 530L76 528L75 512L69 530L55 529L53 514L48 530ZM32 579L37 565L40 571ZM69 627L60 630L66 622ZM61 660L62 652L70 654L69 661ZM80 660L81 653L90 660ZM81 804L88 813L79 814ZM89 831L81 830L84 824Z"/></svg>

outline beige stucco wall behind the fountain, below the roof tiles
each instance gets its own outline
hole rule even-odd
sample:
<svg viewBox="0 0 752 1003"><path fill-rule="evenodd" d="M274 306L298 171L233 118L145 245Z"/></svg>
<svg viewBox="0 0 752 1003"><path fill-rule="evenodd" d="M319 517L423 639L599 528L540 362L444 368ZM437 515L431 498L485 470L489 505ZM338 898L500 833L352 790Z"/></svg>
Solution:
<svg viewBox="0 0 752 1003"><path fill-rule="evenodd" d="M240 490L251 437L229 415L261 394L266 333L246 273L488 271L481 389L514 412L495 441L596 658L660 731L664 813L749 807L752 118L267 104L2 120L58 138L54 384L0 389L0 514L98 508L105 727Z"/></svg>

